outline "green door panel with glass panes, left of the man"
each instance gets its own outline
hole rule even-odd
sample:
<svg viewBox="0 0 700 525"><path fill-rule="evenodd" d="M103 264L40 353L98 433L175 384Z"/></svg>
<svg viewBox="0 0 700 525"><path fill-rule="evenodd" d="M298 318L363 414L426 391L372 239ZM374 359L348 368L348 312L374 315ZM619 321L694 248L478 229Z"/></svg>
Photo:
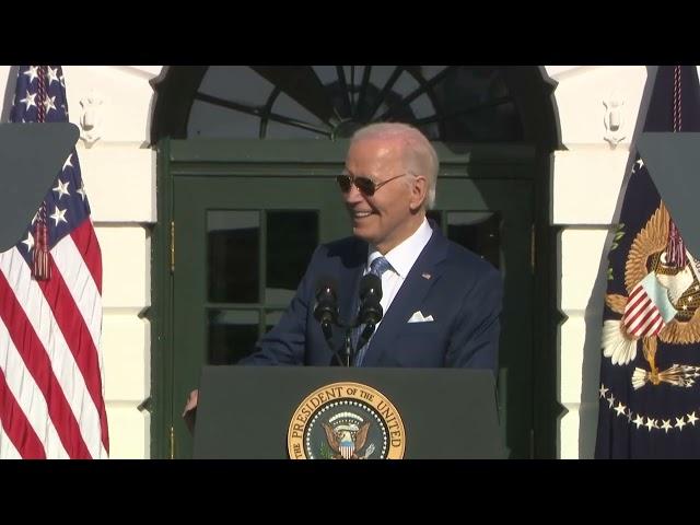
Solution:
<svg viewBox="0 0 700 525"><path fill-rule="evenodd" d="M248 354L287 308L316 246L350 228L330 176L185 176L173 198L174 455L189 457L179 412L201 365Z"/></svg>

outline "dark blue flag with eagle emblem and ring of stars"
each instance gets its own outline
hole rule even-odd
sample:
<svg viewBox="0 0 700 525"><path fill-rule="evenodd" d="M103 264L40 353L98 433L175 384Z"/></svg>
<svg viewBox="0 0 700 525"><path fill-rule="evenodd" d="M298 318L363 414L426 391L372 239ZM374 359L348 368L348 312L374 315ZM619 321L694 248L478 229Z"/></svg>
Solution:
<svg viewBox="0 0 700 525"><path fill-rule="evenodd" d="M644 131L699 131L696 68L653 82ZM637 153L608 256L596 458L700 457L700 254L673 215Z"/></svg>

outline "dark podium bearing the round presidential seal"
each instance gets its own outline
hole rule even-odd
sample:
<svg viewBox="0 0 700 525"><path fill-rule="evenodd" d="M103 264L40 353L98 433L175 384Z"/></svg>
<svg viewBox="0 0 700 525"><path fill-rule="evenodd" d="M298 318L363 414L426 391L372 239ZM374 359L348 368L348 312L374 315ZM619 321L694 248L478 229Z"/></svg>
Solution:
<svg viewBox="0 0 700 525"><path fill-rule="evenodd" d="M195 458L503 458L491 371L205 366Z"/></svg>

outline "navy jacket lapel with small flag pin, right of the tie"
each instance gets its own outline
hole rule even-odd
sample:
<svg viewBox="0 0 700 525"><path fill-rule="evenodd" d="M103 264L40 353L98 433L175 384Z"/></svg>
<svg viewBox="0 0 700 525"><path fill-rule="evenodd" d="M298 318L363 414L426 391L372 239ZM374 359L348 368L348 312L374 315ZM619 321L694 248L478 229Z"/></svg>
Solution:
<svg viewBox="0 0 700 525"><path fill-rule="evenodd" d="M447 240L433 226L433 234L408 272L386 315L372 338L364 366L376 366L411 315L421 308L423 299L442 275L441 262L447 257Z"/></svg>

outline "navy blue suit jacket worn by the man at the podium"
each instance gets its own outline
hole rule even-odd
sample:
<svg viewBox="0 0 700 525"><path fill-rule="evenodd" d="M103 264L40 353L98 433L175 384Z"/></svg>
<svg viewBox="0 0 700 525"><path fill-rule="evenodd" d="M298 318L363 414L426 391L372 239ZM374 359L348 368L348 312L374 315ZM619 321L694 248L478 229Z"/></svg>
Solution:
<svg viewBox="0 0 700 525"><path fill-rule="evenodd" d="M495 374L501 275L431 225L433 234L374 334L363 366L465 366ZM288 311L241 364L332 364L314 318L315 289L322 277L337 279L340 318L349 320L366 258L368 243L357 237L319 246ZM434 320L408 323L417 311ZM342 340L343 330L334 328L334 348Z"/></svg>

